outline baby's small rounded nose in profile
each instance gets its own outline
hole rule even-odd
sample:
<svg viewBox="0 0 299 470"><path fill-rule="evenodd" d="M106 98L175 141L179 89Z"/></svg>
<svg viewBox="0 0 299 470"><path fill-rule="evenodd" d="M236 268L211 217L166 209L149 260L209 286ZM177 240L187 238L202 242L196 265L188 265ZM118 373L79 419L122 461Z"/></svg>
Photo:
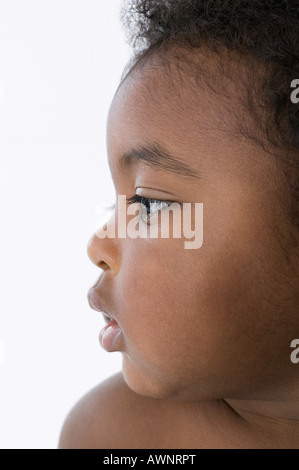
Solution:
<svg viewBox="0 0 299 470"><path fill-rule="evenodd" d="M119 259L119 248L117 245L117 239L109 237L99 237L98 234L102 229L97 230L92 235L87 245L87 254L89 259L99 268L104 271L111 270L114 273L118 272L118 259Z"/></svg>

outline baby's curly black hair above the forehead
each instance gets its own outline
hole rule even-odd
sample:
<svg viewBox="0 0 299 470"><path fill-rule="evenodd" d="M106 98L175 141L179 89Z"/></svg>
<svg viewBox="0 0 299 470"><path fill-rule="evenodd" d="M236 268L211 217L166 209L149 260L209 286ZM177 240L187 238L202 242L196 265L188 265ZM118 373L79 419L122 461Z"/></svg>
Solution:
<svg viewBox="0 0 299 470"><path fill-rule="evenodd" d="M299 79L299 0L126 0L121 19L133 46L123 80L153 54L177 57L179 49L221 55L225 48L244 59L253 84L248 109L259 129L256 106L266 111L263 135L284 155L291 221L299 229L299 105L291 100ZM253 73L252 63L263 73Z"/></svg>

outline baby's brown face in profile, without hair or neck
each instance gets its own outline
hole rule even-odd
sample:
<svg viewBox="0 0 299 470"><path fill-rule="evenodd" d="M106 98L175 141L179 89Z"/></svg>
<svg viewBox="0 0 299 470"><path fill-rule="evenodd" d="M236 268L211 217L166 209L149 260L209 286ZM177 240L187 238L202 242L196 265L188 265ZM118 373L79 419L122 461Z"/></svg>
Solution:
<svg viewBox="0 0 299 470"><path fill-rule="evenodd" d="M229 101L196 91L187 75L178 80L169 86L161 68L125 80L109 113L108 157L117 195L202 203L203 244L91 238L89 256L104 269L96 290L121 328L114 349L126 382L144 395L275 393L296 372L290 341L299 327L282 243L284 182L274 157L233 133ZM158 157L120 165L153 146L181 170Z"/></svg>

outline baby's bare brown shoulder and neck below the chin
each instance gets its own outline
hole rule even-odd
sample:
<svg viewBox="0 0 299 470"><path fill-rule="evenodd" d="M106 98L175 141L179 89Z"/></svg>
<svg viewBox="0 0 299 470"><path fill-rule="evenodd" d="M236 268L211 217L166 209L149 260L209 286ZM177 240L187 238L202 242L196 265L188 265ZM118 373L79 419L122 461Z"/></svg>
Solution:
<svg viewBox="0 0 299 470"><path fill-rule="evenodd" d="M273 419L264 410L242 416L224 400L147 398L117 374L72 409L59 448L293 449L298 448L298 423Z"/></svg>

